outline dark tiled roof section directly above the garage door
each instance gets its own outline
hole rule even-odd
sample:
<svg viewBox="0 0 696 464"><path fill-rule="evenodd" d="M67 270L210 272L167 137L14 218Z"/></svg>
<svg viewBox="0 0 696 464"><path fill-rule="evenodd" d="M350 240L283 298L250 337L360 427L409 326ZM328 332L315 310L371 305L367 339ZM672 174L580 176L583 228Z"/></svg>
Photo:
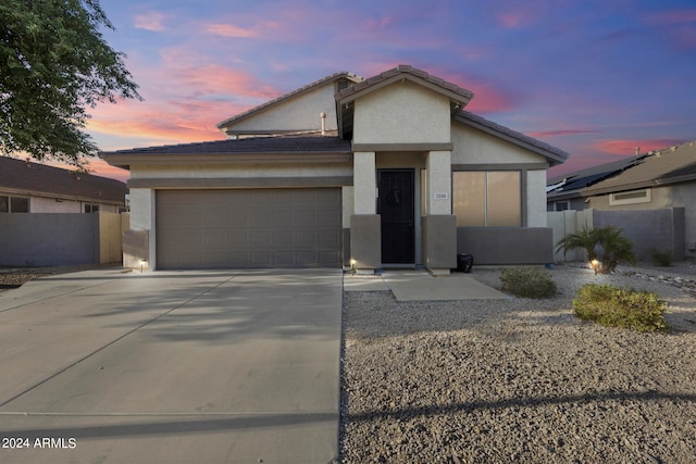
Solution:
<svg viewBox="0 0 696 464"><path fill-rule="evenodd" d="M254 162L262 156L282 161L290 155L307 154L308 160L320 161L322 155L350 154L350 141L341 140L336 133L250 137L162 147L134 148L102 152L109 164L129 168L130 164L161 164L181 161L212 164L225 161ZM195 159L188 158L194 155ZM294 159L294 161L296 161Z"/></svg>

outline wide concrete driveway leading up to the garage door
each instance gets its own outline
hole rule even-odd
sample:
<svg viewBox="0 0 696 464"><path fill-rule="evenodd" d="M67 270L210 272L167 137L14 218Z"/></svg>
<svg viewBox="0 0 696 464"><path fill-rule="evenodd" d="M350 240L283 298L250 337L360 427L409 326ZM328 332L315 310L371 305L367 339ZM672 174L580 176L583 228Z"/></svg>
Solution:
<svg viewBox="0 0 696 464"><path fill-rule="evenodd" d="M101 269L1 292L0 462L332 462L341 278Z"/></svg>

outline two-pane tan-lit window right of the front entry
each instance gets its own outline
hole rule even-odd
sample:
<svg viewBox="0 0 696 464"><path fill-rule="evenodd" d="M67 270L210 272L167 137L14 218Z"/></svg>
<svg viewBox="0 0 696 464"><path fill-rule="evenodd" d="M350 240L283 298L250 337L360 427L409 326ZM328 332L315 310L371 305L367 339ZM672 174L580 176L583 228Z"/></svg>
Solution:
<svg viewBox="0 0 696 464"><path fill-rule="evenodd" d="M460 171L452 175L459 227L520 227L519 171Z"/></svg>

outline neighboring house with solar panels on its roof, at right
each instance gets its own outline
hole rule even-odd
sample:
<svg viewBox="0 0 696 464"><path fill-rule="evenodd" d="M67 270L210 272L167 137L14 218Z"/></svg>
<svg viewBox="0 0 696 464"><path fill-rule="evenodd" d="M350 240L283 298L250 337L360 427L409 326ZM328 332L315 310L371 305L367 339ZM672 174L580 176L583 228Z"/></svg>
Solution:
<svg viewBox="0 0 696 464"><path fill-rule="evenodd" d="M621 163L623 166L619 167ZM549 179L548 210L558 211L561 201L567 201L572 210L593 209L601 213L604 222L616 223L612 225L623 228L627 235L638 228L655 234L670 229L674 239L646 243L646 247L668 248L676 258L696 256L696 140L596 170L611 173L585 186L577 186L575 181L583 177L582 172L567 175L570 181L563 185ZM667 209L671 209L671 213L663 216L636 211Z"/></svg>

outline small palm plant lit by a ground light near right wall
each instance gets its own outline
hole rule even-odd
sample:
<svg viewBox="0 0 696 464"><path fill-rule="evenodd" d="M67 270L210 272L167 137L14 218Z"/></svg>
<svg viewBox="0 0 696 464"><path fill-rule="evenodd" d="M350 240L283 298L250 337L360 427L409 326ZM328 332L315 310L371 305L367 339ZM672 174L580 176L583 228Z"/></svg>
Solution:
<svg viewBox="0 0 696 464"><path fill-rule="evenodd" d="M601 261L598 260L597 247L601 247ZM606 226L588 228L584 226L577 234L569 234L556 244L557 251L567 253L569 250L583 249L587 253L595 274L608 274L617 268L619 262L635 264L636 258L633 242L621 235L621 229Z"/></svg>

